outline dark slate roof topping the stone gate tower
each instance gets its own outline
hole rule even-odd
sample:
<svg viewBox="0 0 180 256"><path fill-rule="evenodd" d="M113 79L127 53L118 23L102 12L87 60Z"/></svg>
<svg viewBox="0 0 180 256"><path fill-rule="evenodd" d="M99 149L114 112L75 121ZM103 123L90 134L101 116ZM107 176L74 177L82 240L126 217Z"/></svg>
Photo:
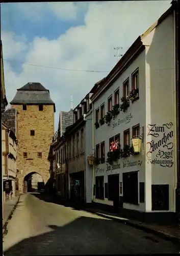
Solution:
<svg viewBox="0 0 180 256"><path fill-rule="evenodd" d="M53 104L54 112L56 112L55 103L50 98L49 90L45 89L39 82L29 82L17 89L17 93L10 104Z"/></svg>

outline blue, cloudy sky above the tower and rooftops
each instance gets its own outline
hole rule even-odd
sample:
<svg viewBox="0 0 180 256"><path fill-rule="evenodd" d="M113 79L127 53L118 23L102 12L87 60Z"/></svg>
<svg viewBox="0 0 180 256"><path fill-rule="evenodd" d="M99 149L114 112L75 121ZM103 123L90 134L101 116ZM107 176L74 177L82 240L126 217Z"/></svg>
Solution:
<svg viewBox="0 0 180 256"><path fill-rule="evenodd" d="M40 82L59 112L69 111L106 77L171 6L171 1L2 3L1 39L10 102L28 82ZM87 72L94 71L94 72ZM98 72L95 72L98 71Z"/></svg>

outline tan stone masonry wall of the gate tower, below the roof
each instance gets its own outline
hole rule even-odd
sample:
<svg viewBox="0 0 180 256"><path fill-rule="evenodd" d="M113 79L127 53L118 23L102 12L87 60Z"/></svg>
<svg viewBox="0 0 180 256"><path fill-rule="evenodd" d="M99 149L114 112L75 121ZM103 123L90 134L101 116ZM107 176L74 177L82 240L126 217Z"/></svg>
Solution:
<svg viewBox="0 0 180 256"><path fill-rule="evenodd" d="M32 172L42 176L44 182L50 178L48 154L54 135L54 106L43 105L39 111L38 105L27 105L27 110L22 110L22 105L12 105L18 111L18 145L17 168L19 169L19 191L22 192L24 177ZM35 130L35 136L30 131ZM23 157L27 153L27 158ZM42 153L38 158L37 153Z"/></svg>

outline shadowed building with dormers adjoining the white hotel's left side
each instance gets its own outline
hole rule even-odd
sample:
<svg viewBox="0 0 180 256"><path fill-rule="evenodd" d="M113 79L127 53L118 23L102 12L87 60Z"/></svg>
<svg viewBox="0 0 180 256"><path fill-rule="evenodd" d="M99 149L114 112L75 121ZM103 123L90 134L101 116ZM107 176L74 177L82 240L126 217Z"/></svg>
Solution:
<svg viewBox="0 0 180 256"><path fill-rule="evenodd" d="M98 87L94 85L73 110L73 124L65 132L67 139L68 189L71 201L92 202L92 166L88 156L92 150L92 103L90 97Z"/></svg>

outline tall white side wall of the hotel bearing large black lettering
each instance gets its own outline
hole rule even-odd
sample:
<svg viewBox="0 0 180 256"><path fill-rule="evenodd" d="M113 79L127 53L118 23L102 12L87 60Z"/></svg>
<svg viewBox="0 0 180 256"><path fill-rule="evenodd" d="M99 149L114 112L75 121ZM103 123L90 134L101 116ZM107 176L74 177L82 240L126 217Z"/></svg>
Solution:
<svg viewBox="0 0 180 256"><path fill-rule="evenodd" d="M156 143L162 140L164 134L166 137L170 132L171 135L173 134L172 138L169 138L166 143L163 142L155 151L146 155L146 210L151 210L151 193L149 193L151 184L169 184L169 210L173 211L176 176L175 40L173 34L173 15L169 15L143 41L146 45L150 45L150 47L146 47L146 152L152 150L152 140ZM172 122L172 125L169 124L170 122ZM151 126L151 130L154 131L156 129L158 131L158 127L160 127L159 132L149 132L150 126L148 128L148 124L154 125ZM168 143L170 144L168 145ZM163 147L165 144L168 147ZM155 159L163 161L162 164L155 163ZM173 164L166 166L167 161L172 161Z"/></svg>

